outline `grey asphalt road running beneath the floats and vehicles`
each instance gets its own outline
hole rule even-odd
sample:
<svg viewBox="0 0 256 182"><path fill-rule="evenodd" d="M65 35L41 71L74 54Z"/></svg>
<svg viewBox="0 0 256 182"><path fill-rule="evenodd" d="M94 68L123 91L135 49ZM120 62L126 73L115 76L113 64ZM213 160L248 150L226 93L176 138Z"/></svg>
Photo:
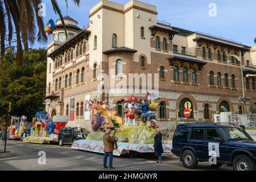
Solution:
<svg viewBox="0 0 256 182"><path fill-rule="evenodd" d="M4 142L0 141L0 151L3 150ZM23 143L19 141L7 141L7 151L15 152L12 158L0 159L0 171L5 170L45 170L45 171L108 171L102 168L102 154L72 150L71 146L60 147L58 145L42 145ZM46 165L40 165L39 151L46 152ZM183 167L179 159L171 154L164 154L163 164L155 164L154 155L142 155L138 158L128 156L114 157L114 167L120 171L182 171L188 170ZM195 170L232 170L232 167L222 166L212 168L207 163L200 163Z"/></svg>

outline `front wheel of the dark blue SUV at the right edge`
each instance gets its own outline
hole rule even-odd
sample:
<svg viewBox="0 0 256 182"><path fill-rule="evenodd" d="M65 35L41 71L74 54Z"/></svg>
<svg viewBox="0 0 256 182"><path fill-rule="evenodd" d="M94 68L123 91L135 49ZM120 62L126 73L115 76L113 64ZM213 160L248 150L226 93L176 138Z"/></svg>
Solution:
<svg viewBox="0 0 256 182"><path fill-rule="evenodd" d="M255 171L255 163L247 155L238 155L233 160L233 169L234 171Z"/></svg>

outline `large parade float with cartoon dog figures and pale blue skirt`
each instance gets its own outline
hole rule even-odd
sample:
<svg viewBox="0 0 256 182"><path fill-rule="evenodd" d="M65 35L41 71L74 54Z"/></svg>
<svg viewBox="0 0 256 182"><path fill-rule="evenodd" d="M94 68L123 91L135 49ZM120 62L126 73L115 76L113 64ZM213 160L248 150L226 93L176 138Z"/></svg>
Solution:
<svg viewBox="0 0 256 182"><path fill-rule="evenodd" d="M104 153L102 137L106 129L118 138L118 149L114 155L154 152L156 135L156 110L159 98L147 94L146 102L139 104L137 97L130 96L125 100L125 117L118 117L115 111L101 101L91 101L92 132L85 140L77 140L72 144L75 150ZM163 144L164 152L171 152L171 144Z"/></svg>

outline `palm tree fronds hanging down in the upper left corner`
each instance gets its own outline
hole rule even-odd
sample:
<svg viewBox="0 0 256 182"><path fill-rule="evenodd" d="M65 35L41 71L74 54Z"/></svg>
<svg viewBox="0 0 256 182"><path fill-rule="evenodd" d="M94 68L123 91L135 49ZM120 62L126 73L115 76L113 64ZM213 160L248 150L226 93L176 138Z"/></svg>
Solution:
<svg viewBox="0 0 256 182"><path fill-rule="evenodd" d="M47 0L48 1L48 0ZM79 6L80 0L73 0ZM42 0L0 0L0 44L1 59L5 54L6 37L9 45L16 35L17 61L23 63L23 47L28 49L28 43L33 45L37 39L40 43L47 42L47 35L44 32L43 17L38 15L39 3ZM59 14L65 28L65 23L57 0L51 0L53 10ZM36 26L38 34L36 35ZM67 31L65 30L67 36Z"/></svg>

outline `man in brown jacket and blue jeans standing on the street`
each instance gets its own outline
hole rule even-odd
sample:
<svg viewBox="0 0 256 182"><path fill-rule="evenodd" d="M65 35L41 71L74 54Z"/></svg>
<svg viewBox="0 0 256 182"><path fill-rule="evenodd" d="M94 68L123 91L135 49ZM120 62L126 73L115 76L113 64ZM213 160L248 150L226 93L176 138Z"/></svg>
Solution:
<svg viewBox="0 0 256 182"><path fill-rule="evenodd" d="M110 169L114 169L113 167L113 151L114 151L114 143L115 140L117 139L115 136L111 137L111 130L108 129L106 131L106 133L103 135L103 143L104 143L104 150L105 150L105 154L104 154L104 164L103 167L105 169L108 169L108 167L106 166L107 160L108 160L108 156L109 156L109 168Z"/></svg>

